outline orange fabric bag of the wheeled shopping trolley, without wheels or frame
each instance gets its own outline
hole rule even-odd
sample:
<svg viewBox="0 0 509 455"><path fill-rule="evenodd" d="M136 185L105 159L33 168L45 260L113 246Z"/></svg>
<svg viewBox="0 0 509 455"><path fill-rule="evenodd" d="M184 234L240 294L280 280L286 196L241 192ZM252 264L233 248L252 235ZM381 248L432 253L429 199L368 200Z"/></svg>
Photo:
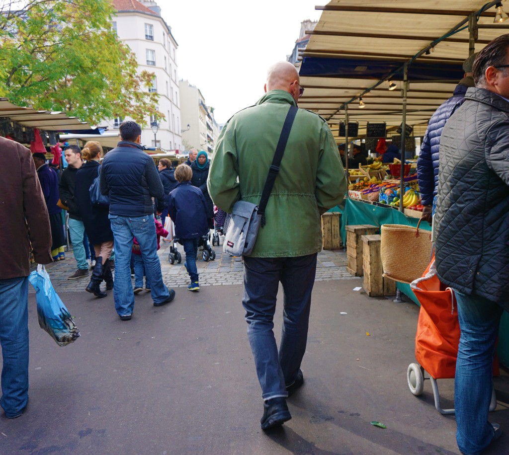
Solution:
<svg viewBox="0 0 509 455"><path fill-rule="evenodd" d="M426 277L434 262L435 256L422 277ZM433 378L454 378L460 343L460 323L454 292L440 283L436 272L426 280L415 283L415 286L418 289L412 284L412 290L421 305L415 334L415 358ZM495 357L493 375L499 374L498 359Z"/></svg>

